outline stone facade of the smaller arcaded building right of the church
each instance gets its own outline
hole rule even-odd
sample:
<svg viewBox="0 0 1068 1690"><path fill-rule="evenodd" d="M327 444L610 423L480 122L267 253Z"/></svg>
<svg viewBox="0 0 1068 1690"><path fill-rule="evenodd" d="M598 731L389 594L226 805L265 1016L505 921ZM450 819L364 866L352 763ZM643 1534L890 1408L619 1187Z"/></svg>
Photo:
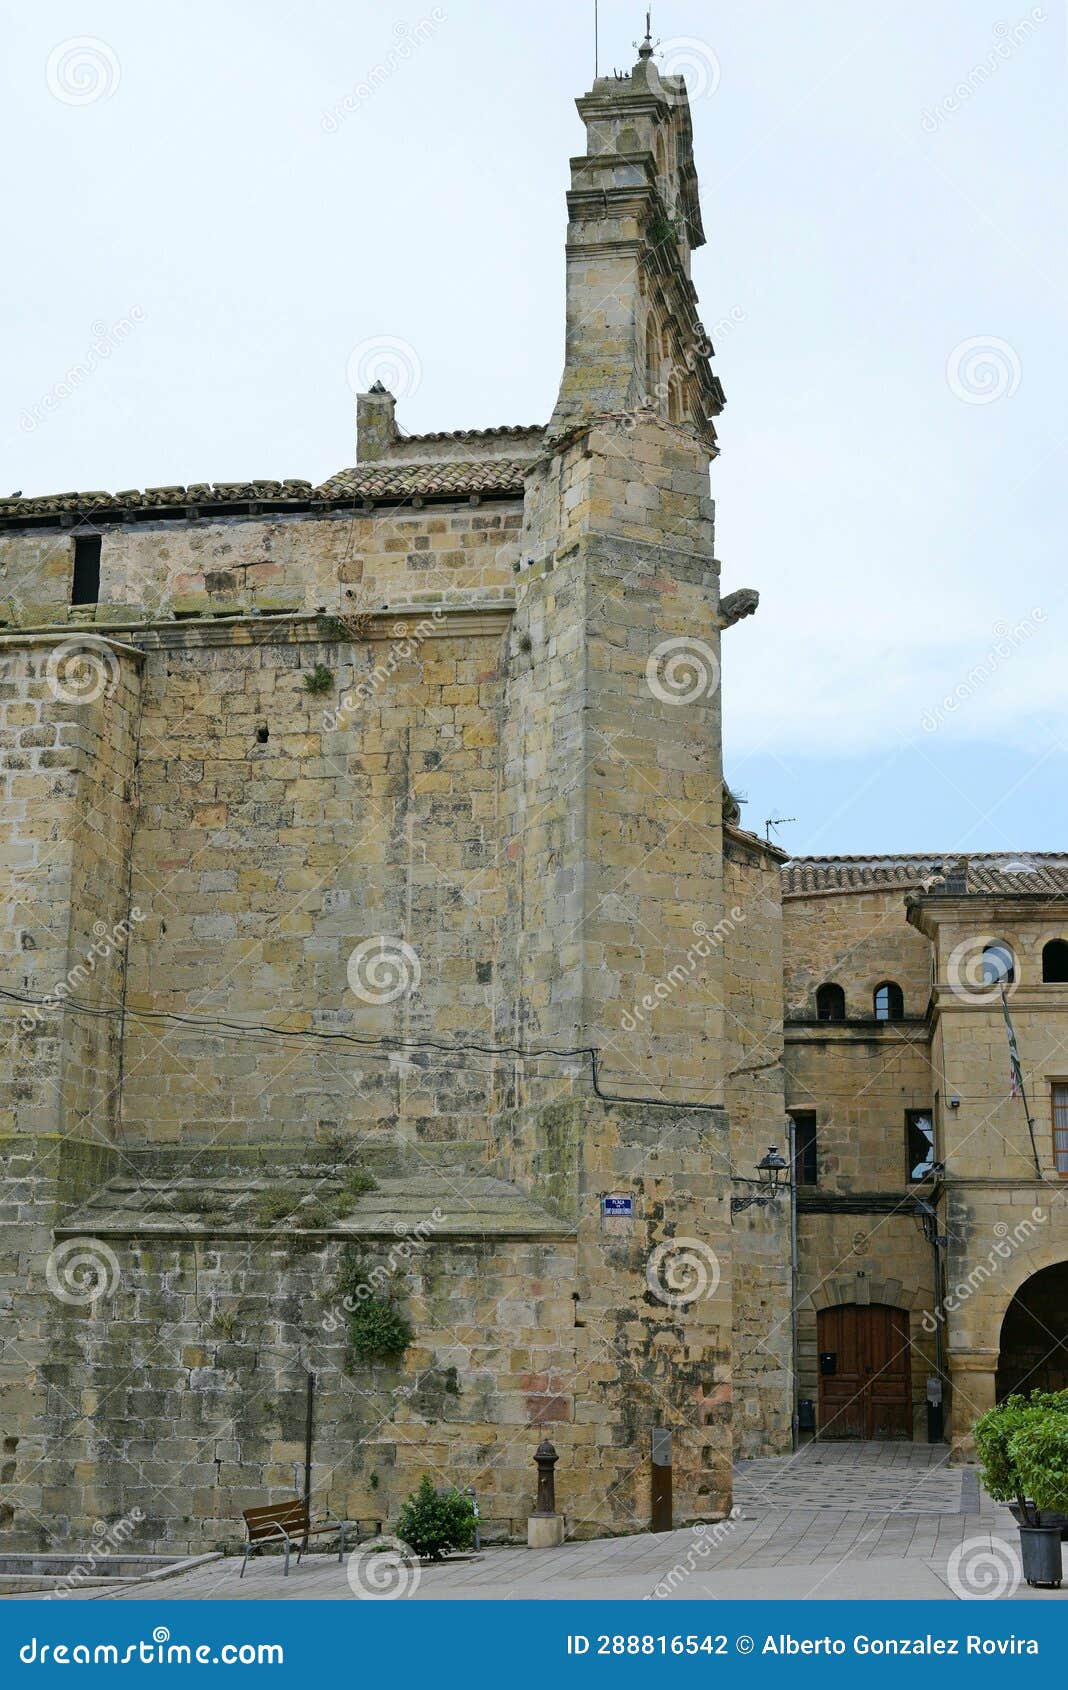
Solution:
<svg viewBox="0 0 1068 1690"><path fill-rule="evenodd" d="M815 1178L796 1191L798 1396L826 1426L828 1311L901 1310L911 1431L928 1435L928 1381L940 1379L945 1430L967 1457L995 1393L1068 1386L1063 1136L1054 1154L1068 857L799 860L784 870L782 911L786 1098L815 1127ZM901 989L891 1012L877 999L887 985ZM830 1016L821 987L842 989ZM929 1124L926 1168L909 1156L909 1112Z"/></svg>

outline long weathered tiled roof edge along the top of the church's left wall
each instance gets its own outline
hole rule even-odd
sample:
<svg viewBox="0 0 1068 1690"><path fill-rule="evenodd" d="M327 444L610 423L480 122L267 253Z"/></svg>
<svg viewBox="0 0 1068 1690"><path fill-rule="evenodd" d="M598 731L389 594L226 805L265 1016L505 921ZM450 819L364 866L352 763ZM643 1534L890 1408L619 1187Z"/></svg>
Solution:
<svg viewBox="0 0 1068 1690"><path fill-rule="evenodd" d="M500 429L485 433L504 433ZM51 515L91 515L105 510L159 510L176 505L294 504L335 499L434 499L471 493L522 493L524 461L473 458L455 463L362 463L340 470L321 487L311 482L198 482L191 487L127 488L120 493L46 493L41 499L0 499L0 522Z"/></svg>

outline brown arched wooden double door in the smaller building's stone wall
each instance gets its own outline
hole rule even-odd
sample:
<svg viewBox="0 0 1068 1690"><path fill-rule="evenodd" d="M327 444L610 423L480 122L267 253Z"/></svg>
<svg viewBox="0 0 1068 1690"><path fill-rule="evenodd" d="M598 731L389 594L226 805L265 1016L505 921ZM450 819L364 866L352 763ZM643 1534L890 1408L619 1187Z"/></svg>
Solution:
<svg viewBox="0 0 1068 1690"><path fill-rule="evenodd" d="M820 1311L820 1436L911 1438L909 1317L884 1303Z"/></svg>

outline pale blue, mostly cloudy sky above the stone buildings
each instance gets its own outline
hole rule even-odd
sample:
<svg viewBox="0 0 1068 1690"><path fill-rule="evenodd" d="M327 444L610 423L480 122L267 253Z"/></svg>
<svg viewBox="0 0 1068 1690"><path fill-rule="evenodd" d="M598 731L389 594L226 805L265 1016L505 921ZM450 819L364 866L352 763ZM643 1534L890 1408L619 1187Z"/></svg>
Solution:
<svg viewBox="0 0 1068 1690"><path fill-rule="evenodd" d="M602 0L602 73L642 10ZM723 639L744 825L1068 848L1065 0L652 24L691 90L723 590L762 597ZM591 0L37 0L5 49L0 492L319 482L368 343L407 431L549 417Z"/></svg>

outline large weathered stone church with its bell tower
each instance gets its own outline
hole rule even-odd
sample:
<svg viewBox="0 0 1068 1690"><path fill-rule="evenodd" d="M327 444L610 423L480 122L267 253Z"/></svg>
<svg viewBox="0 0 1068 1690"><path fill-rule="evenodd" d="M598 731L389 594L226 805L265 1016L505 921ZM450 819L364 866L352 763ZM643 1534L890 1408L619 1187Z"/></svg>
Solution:
<svg viewBox="0 0 1068 1690"><path fill-rule="evenodd" d="M309 1369L368 1524L429 1472L522 1536L546 1430L571 1535L649 1526L654 1430L676 1518L730 1506L722 943L674 984L725 914L722 390L657 86L580 103L548 429L375 392L316 488L0 504L12 1543L232 1545Z"/></svg>

